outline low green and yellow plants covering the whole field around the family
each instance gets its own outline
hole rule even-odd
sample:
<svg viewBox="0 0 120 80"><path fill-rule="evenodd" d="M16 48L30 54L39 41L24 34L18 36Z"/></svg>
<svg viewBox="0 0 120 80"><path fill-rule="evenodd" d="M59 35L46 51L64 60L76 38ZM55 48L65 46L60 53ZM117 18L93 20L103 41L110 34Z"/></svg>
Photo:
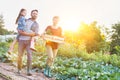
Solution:
<svg viewBox="0 0 120 80"><path fill-rule="evenodd" d="M119 80L120 79L120 56L109 55L104 51L88 54L85 44L65 43L60 45L58 57L52 67L53 77L56 80ZM2 48L5 46L4 48ZM12 54L6 54L9 43L1 43L7 60L17 66L17 45ZM33 52L33 71L45 68L47 54L45 53L45 41L36 40L36 49ZM5 49L6 48L6 49ZM23 67L26 67L26 53L23 56ZM40 71L39 70L39 71Z"/></svg>

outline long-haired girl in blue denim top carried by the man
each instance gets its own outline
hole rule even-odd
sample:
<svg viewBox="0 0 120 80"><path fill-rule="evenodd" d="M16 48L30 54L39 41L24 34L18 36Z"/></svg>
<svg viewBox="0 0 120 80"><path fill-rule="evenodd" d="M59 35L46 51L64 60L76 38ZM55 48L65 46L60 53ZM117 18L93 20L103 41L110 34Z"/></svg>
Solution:
<svg viewBox="0 0 120 80"><path fill-rule="evenodd" d="M26 9L21 9L20 12L19 12L19 15L16 19L16 22L15 24L18 25L17 27L17 30L21 30L21 31L26 31L26 19L25 19L25 16L26 16ZM30 30L29 32L32 32L32 30ZM8 53L11 54L11 52L13 51L13 48L14 48L14 45L16 44L16 42L19 40L19 36L20 34L18 33L17 35L17 38L12 42L9 50L8 50ZM31 46L30 46L31 50L33 51L36 51L35 48L34 48L34 38L31 38Z"/></svg>

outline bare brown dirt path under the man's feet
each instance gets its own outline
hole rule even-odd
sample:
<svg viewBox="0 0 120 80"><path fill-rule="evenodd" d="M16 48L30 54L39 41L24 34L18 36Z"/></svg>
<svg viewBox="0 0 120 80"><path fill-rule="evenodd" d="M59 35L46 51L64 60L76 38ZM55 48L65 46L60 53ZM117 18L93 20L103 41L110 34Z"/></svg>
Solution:
<svg viewBox="0 0 120 80"><path fill-rule="evenodd" d="M43 73L33 72L32 76L26 75L26 70L22 70L22 73L18 75L16 67L10 63L0 63L0 80L55 80L54 78L47 78Z"/></svg>

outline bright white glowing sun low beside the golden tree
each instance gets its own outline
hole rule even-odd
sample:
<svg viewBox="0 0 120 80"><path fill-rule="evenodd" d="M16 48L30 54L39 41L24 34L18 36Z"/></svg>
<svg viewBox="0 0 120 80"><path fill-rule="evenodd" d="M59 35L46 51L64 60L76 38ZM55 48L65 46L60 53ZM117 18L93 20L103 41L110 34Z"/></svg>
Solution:
<svg viewBox="0 0 120 80"><path fill-rule="evenodd" d="M80 27L80 21L77 19L69 19L65 20L62 24L63 30L74 31L76 32L77 29Z"/></svg>

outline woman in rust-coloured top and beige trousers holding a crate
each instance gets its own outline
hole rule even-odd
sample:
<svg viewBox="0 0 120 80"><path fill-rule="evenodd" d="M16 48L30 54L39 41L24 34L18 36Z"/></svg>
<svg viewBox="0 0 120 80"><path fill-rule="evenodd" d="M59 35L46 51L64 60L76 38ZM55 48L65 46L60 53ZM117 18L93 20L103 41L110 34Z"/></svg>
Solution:
<svg viewBox="0 0 120 80"><path fill-rule="evenodd" d="M58 22L59 22L59 17L54 16L53 24L50 26L47 26L47 28L45 29L45 33L48 35L62 37L62 28L58 26ZM46 52L47 52L48 58L46 60L44 75L46 75L47 77L52 77L51 66L53 65L54 60L56 58L58 47L59 47L59 43L46 41Z"/></svg>

